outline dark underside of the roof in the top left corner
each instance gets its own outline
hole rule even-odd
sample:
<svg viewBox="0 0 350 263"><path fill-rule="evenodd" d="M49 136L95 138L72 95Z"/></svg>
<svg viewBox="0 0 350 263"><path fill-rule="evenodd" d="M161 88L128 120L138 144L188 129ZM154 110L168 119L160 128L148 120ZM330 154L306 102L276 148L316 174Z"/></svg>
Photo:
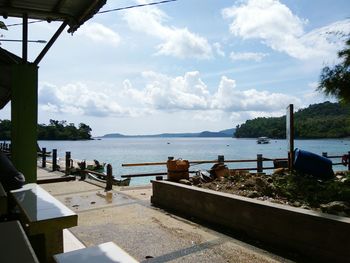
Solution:
<svg viewBox="0 0 350 263"><path fill-rule="evenodd" d="M106 0L0 0L0 15L50 21L67 21L68 32L75 32L94 16Z"/></svg>

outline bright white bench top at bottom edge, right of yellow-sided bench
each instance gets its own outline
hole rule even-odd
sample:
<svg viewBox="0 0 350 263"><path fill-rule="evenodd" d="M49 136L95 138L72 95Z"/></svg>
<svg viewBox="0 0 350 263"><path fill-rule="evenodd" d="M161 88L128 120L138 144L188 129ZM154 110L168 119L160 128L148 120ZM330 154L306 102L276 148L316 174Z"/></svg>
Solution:
<svg viewBox="0 0 350 263"><path fill-rule="evenodd" d="M87 247L54 256L57 263L136 263L123 249L113 242Z"/></svg>

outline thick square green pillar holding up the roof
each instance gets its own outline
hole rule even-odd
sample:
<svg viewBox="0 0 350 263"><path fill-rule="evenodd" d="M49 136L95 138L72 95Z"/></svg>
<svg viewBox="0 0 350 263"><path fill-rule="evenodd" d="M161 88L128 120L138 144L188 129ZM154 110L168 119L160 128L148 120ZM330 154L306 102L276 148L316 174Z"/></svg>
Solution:
<svg viewBox="0 0 350 263"><path fill-rule="evenodd" d="M12 162L26 183L37 180L38 67L12 66L11 151Z"/></svg>

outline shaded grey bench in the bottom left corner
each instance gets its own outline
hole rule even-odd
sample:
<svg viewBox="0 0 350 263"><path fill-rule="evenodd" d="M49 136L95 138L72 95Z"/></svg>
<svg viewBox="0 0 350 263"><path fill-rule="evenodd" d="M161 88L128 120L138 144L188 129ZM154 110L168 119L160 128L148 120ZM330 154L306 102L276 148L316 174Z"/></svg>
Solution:
<svg viewBox="0 0 350 263"><path fill-rule="evenodd" d="M0 223L0 262L39 263L18 221Z"/></svg>

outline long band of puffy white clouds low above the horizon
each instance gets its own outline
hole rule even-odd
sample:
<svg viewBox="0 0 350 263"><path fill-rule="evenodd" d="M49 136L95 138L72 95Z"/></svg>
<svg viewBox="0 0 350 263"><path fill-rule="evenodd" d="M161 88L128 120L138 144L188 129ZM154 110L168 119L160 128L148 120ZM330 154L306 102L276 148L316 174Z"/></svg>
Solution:
<svg viewBox="0 0 350 263"><path fill-rule="evenodd" d="M142 77L142 87L135 88L126 79L116 96L103 93L102 88L93 90L84 83L59 87L41 84L39 107L45 112L94 117L186 112L194 120L215 121L230 115L234 120L243 119L242 116L275 116L283 113L290 103L296 108L301 105L296 97L282 93L240 90L235 80L225 76L217 88L210 91L198 71L174 77L147 71Z"/></svg>

